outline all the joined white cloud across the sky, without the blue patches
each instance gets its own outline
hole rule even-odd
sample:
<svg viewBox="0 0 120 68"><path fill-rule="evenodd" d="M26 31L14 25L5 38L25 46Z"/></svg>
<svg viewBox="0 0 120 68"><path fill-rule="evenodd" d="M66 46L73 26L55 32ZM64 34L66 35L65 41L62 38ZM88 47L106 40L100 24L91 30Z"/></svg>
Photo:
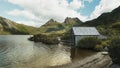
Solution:
<svg viewBox="0 0 120 68"><path fill-rule="evenodd" d="M120 6L120 0L100 0L99 5L90 16L82 16L78 10L85 8L84 2L91 3L93 0L7 0L9 3L23 7L24 10L14 9L9 15L24 16L27 21L23 24L40 26L50 19L63 22L66 17L78 17L82 21L97 18L104 12L110 12ZM33 24L34 23L34 24Z"/></svg>

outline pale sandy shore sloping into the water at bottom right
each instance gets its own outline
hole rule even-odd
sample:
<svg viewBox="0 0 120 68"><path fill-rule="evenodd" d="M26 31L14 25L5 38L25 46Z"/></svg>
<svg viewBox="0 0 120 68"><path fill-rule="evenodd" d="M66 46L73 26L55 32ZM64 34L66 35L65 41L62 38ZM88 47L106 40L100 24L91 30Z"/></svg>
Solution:
<svg viewBox="0 0 120 68"><path fill-rule="evenodd" d="M80 61L50 68L108 68L110 63L111 59L108 55L102 55L101 52L98 52Z"/></svg>

